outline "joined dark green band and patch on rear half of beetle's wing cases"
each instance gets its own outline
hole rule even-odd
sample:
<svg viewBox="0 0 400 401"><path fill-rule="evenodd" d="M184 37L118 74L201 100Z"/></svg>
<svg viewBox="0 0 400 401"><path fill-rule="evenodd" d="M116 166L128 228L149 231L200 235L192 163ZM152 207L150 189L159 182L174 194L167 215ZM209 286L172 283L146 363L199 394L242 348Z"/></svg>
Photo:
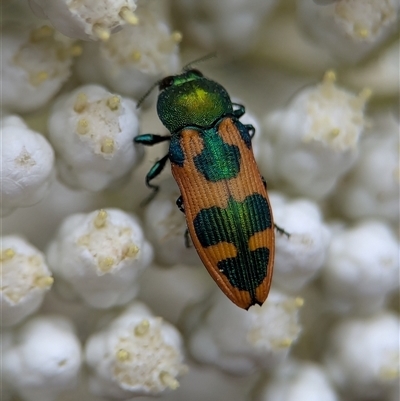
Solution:
<svg viewBox="0 0 400 401"><path fill-rule="evenodd" d="M267 200L253 194L238 202L232 197L226 208L213 206L195 217L194 229L203 247L229 242L237 255L217 263L229 283L255 298L255 289L267 276L269 249L249 249L249 240L257 232L271 228L271 211Z"/></svg>

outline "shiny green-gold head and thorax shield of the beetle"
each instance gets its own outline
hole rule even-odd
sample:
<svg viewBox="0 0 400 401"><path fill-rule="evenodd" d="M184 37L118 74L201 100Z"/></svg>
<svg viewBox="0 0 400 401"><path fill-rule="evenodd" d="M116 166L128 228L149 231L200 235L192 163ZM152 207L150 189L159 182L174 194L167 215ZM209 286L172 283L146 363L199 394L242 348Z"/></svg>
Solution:
<svg viewBox="0 0 400 401"><path fill-rule="evenodd" d="M228 92L197 70L166 77L159 88L157 113L172 133L187 126L209 127L233 111Z"/></svg>

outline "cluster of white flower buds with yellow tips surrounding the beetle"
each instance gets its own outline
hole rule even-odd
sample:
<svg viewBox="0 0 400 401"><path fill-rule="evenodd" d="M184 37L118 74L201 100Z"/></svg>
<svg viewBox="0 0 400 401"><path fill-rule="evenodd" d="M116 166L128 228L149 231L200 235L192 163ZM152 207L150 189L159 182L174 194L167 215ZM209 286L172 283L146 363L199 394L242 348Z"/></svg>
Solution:
<svg viewBox="0 0 400 401"><path fill-rule="evenodd" d="M4 2L2 400L397 401L399 13ZM185 241L168 168L148 198L168 150L133 141L166 134L151 90L202 56L246 107L284 229L269 297L248 311Z"/></svg>

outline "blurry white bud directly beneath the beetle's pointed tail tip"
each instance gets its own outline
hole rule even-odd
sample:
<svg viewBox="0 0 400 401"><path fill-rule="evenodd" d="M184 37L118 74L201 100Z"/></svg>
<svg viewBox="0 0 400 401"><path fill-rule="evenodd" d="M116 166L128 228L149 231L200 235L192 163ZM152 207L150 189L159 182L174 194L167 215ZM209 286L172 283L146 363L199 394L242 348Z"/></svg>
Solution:
<svg viewBox="0 0 400 401"><path fill-rule="evenodd" d="M247 375L283 361L300 334L300 298L272 290L265 303L248 311L221 291L187 316L188 347L199 362Z"/></svg>

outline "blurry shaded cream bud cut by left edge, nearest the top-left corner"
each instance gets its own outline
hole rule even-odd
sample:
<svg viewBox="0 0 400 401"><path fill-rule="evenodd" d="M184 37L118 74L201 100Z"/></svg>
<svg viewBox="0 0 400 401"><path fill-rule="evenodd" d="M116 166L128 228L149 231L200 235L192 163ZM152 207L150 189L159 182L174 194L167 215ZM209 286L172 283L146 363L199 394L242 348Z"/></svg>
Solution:
<svg viewBox="0 0 400 401"><path fill-rule="evenodd" d="M2 107L17 113L38 110L70 76L72 58L80 52L48 26L14 22L2 27Z"/></svg>

